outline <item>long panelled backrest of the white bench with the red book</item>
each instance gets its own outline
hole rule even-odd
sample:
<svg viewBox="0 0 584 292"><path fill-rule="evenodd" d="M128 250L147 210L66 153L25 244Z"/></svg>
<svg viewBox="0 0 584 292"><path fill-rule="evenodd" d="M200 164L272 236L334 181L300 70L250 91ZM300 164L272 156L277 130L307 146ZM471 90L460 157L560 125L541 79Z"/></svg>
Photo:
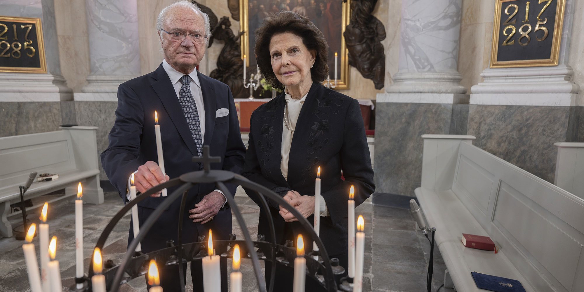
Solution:
<svg viewBox="0 0 584 292"><path fill-rule="evenodd" d="M584 291L583 199L466 142L451 182L532 286Z"/></svg>

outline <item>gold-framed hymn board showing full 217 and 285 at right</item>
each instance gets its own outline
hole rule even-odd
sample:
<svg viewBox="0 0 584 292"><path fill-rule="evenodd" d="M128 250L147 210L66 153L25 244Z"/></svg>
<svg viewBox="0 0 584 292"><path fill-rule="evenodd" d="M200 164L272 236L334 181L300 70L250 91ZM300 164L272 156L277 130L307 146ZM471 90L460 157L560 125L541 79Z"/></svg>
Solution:
<svg viewBox="0 0 584 292"><path fill-rule="evenodd" d="M491 68L558 65L565 0L496 0Z"/></svg>

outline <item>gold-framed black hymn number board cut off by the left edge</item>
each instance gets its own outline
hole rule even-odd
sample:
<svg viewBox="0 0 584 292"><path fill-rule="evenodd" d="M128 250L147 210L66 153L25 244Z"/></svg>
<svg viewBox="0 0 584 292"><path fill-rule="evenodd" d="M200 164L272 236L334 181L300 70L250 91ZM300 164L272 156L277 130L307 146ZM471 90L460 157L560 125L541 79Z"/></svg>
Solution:
<svg viewBox="0 0 584 292"><path fill-rule="evenodd" d="M0 16L0 72L47 72L40 18Z"/></svg>

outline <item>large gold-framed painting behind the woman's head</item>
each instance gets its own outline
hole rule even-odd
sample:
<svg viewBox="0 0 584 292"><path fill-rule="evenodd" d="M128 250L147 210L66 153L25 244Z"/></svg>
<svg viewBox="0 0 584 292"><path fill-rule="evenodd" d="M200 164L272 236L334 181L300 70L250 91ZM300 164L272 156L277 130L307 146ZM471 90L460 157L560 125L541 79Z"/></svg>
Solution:
<svg viewBox="0 0 584 292"><path fill-rule="evenodd" d="M324 34L329 45L328 66L331 83L335 89L349 89L349 51L345 44L345 27L349 24L350 1L339 0L239 0L239 31L241 36L241 56L246 56L246 64L255 72L253 57L255 30L269 13L293 11L310 19ZM335 64L335 53L338 54ZM326 84L326 81L324 82Z"/></svg>

